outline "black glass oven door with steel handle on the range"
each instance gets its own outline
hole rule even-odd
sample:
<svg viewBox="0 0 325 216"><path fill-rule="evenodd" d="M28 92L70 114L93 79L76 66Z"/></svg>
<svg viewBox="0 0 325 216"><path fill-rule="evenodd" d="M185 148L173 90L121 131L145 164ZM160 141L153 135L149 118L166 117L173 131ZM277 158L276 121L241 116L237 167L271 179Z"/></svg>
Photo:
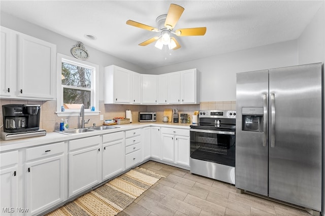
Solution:
<svg viewBox="0 0 325 216"><path fill-rule="evenodd" d="M235 167L235 132L190 128L190 158Z"/></svg>

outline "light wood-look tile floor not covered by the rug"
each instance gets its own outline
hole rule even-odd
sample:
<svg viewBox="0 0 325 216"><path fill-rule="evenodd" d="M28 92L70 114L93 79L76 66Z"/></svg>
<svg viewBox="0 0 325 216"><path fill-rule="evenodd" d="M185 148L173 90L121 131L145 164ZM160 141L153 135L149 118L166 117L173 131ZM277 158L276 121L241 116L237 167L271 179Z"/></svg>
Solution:
<svg viewBox="0 0 325 216"><path fill-rule="evenodd" d="M118 216L127 215L310 215L308 212L236 193L233 185L148 161L140 167L164 175Z"/></svg>

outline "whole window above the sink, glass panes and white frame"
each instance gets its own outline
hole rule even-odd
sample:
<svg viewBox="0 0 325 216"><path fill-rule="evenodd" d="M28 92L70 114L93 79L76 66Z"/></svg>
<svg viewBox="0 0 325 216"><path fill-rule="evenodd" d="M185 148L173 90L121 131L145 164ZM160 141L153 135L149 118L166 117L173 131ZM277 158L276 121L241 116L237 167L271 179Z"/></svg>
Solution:
<svg viewBox="0 0 325 216"><path fill-rule="evenodd" d="M57 114L76 116L84 104L87 115L98 115L98 65L58 54ZM62 112L61 106L64 107Z"/></svg>

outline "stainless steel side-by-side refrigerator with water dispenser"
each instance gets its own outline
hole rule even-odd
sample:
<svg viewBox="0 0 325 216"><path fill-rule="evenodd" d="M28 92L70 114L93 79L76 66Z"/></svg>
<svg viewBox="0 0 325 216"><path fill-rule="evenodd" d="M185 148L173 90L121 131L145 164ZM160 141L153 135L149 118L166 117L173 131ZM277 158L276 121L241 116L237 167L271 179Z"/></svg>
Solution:
<svg viewBox="0 0 325 216"><path fill-rule="evenodd" d="M237 74L236 188L321 211L321 66Z"/></svg>

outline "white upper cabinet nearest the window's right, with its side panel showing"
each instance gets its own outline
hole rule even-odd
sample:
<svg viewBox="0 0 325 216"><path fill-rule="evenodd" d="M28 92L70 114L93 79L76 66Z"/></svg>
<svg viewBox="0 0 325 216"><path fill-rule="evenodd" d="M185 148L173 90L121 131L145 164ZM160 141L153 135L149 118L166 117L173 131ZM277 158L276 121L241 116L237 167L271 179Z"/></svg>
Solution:
<svg viewBox="0 0 325 216"><path fill-rule="evenodd" d="M131 103L133 73L115 65L105 67L104 103Z"/></svg>

